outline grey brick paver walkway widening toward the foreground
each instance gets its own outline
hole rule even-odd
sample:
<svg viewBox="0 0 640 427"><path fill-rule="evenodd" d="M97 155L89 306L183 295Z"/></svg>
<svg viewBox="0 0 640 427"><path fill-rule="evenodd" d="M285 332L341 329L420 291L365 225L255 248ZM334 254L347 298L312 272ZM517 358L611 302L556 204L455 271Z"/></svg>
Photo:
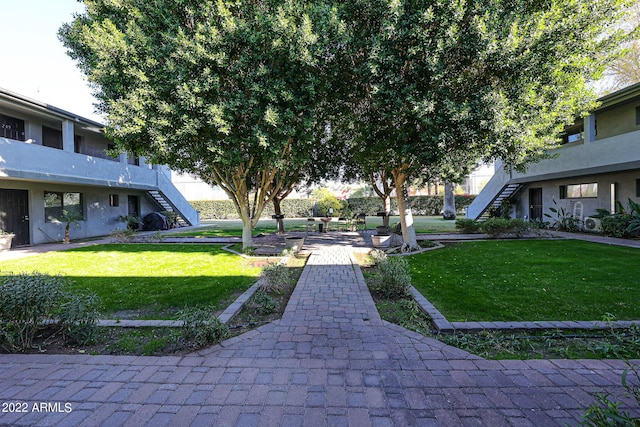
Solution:
<svg viewBox="0 0 640 427"><path fill-rule="evenodd" d="M575 425L590 392L621 392L620 361L487 361L383 322L353 242L308 243L283 318L222 345L0 355L0 425Z"/></svg>

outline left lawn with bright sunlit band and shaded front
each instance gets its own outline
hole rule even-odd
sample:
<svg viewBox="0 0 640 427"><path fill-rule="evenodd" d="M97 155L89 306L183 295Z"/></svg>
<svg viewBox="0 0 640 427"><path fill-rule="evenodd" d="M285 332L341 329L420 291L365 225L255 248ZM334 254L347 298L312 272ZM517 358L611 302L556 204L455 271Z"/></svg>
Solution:
<svg viewBox="0 0 640 427"><path fill-rule="evenodd" d="M166 318L186 306L217 306L260 274L250 261L216 245L125 244L85 248L0 263L6 272L60 274L97 294L103 315Z"/></svg>

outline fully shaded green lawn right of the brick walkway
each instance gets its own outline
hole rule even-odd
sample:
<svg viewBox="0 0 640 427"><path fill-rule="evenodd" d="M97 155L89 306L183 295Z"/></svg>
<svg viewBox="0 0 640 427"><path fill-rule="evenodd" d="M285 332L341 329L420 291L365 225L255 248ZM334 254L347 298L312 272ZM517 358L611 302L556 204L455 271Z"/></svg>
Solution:
<svg viewBox="0 0 640 427"><path fill-rule="evenodd" d="M578 240L484 241L412 256L449 321L640 319L640 250Z"/></svg>

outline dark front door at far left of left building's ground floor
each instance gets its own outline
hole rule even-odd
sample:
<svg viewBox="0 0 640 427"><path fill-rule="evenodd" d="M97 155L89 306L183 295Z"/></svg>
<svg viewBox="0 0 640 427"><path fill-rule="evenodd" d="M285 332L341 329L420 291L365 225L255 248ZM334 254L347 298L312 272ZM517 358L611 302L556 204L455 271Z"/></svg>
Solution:
<svg viewBox="0 0 640 427"><path fill-rule="evenodd" d="M0 189L0 230L13 233L12 246L31 243L29 236L29 192Z"/></svg>

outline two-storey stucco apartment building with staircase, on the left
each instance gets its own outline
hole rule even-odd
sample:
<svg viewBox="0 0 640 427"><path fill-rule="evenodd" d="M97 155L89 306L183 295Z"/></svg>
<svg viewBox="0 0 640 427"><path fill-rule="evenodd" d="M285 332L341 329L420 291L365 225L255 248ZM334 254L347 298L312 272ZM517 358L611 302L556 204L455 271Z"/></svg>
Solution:
<svg viewBox="0 0 640 427"><path fill-rule="evenodd" d="M0 230L13 246L61 241L63 210L82 220L72 238L124 228L121 216L173 210L182 224L198 213L165 166L111 157L103 125L0 89Z"/></svg>

